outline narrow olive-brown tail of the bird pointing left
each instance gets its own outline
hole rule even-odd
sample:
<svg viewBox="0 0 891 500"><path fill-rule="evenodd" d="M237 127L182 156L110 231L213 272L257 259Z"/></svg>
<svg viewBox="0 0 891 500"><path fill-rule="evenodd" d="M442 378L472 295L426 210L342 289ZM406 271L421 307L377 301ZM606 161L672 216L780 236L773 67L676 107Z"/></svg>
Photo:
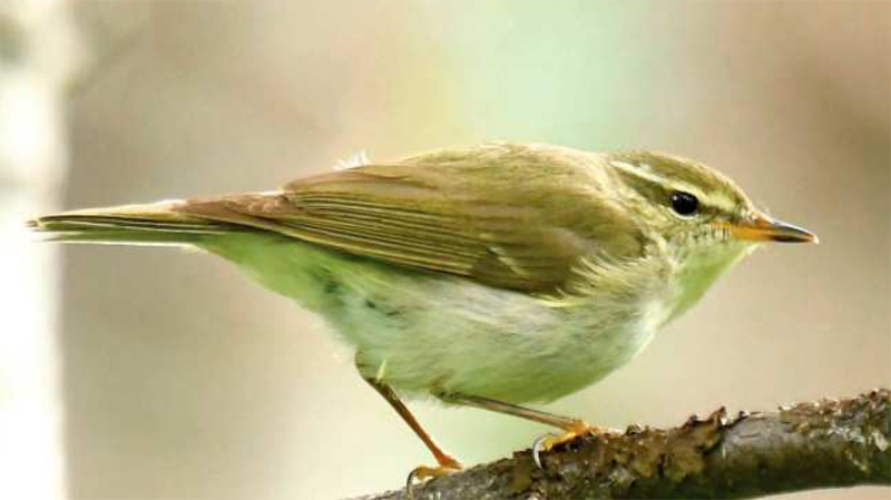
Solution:
<svg viewBox="0 0 891 500"><path fill-rule="evenodd" d="M28 220L46 241L120 245L190 245L208 236L239 231L176 209L183 202L121 205L62 212Z"/></svg>

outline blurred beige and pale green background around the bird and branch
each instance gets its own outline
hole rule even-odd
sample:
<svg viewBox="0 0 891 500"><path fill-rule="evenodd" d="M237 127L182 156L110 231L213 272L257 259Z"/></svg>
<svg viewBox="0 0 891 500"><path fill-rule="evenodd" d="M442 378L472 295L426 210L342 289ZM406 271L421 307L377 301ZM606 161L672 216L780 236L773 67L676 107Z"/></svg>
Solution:
<svg viewBox="0 0 891 500"><path fill-rule="evenodd" d="M550 411L662 427L891 384L889 2L10 0L0 14L3 497L337 499L430 463L350 350L233 266L50 248L20 227L270 189L362 150L664 150L820 235L756 253ZM469 464L547 431L410 405Z"/></svg>

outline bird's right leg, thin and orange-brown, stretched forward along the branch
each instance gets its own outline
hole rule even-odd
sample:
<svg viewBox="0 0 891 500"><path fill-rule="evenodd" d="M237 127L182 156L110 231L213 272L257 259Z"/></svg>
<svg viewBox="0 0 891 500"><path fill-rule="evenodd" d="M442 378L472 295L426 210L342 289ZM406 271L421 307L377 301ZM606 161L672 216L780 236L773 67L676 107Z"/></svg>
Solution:
<svg viewBox="0 0 891 500"><path fill-rule="evenodd" d="M519 416L521 419L531 420L533 422L552 425L562 429L562 434L546 434L536 440L532 445L532 458L536 463L541 467L541 461L538 454L541 451L550 451L551 448L566 443L584 434L594 434L605 432L605 429L596 428L588 422L580 419L572 419L569 416L555 415L539 410L519 406L511 403L490 400L488 398L480 398L476 395L466 394L438 394L443 401L462 404L466 406L481 408L483 410L505 413L508 415Z"/></svg>

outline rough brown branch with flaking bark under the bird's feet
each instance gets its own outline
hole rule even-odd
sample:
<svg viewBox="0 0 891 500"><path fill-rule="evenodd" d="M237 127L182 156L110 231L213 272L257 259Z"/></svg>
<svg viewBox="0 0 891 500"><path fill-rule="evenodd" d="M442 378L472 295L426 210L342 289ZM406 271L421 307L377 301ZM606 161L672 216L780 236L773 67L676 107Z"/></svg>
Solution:
<svg viewBox="0 0 891 500"><path fill-rule="evenodd" d="M724 409L668 430L630 427L529 450L413 488L415 500L751 498L891 486L891 392L728 419ZM407 499L405 491L353 500Z"/></svg>

